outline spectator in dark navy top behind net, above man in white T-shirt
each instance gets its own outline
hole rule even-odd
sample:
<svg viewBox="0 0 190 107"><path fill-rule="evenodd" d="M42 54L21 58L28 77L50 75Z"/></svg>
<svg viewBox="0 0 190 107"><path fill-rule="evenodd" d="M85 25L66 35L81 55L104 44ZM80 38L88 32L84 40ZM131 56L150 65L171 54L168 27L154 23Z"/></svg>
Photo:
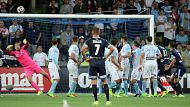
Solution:
<svg viewBox="0 0 190 107"><path fill-rule="evenodd" d="M26 39L30 43L28 52L32 57L36 52L37 44L39 43L42 34L39 31L39 28L37 28L32 21L28 22L28 26L25 27L24 33Z"/></svg>

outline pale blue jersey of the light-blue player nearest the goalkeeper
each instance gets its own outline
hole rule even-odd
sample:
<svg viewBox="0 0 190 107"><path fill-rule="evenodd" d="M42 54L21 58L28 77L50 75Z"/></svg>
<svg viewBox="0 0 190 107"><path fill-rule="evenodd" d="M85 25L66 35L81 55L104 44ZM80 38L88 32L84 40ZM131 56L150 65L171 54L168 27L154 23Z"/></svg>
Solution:
<svg viewBox="0 0 190 107"><path fill-rule="evenodd" d="M56 46L52 46L48 51L49 62L53 62L58 67L59 49Z"/></svg>

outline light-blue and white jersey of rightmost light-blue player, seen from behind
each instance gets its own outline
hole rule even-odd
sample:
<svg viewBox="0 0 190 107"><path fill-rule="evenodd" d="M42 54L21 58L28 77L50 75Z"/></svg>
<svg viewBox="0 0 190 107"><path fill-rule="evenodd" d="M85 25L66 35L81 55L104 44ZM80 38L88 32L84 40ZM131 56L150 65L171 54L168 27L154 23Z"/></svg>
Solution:
<svg viewBox="0 0 190 107"><path fill-rule="evenodd" d="M156 57L161 54L157 46L148 44L142 47L141 53L144 53L144 62L156 61Z"/></svg>

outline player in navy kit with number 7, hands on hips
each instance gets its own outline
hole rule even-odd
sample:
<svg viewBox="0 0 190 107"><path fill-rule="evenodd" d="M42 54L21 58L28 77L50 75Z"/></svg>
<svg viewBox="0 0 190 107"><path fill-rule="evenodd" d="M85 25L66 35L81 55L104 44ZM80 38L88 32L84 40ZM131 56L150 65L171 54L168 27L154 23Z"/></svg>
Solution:
<svg viewBox="0 0 190 107"><path fill-rule="evenodd" d="M89 38L84 46L82 47L82 55L83 58L89 60L89 78L92 82L92 90L94 94L95 101L92 105L98 105L98 97L97 97L97 74L99 74L99 78L102 80L104 92L106 94L106 105L111 105L109 99L109 88L106 81L106 70L105 70L105 60L111 55L113 52L113 47L109 46L109 43L102 39L100 36L100 29L97 27L93 27L92 29L92 38ZM110 50L107 55L104 56L105 48L108 47ZM89 59L87 59L85 52L89 50Z"/></svg>

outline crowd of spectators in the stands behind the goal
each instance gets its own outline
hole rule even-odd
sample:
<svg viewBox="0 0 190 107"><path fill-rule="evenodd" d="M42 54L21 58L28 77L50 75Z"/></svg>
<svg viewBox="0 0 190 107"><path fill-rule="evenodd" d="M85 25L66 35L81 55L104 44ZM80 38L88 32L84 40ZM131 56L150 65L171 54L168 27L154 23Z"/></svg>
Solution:
<svg viewBox="0 0 190 107"><path fill-rule="evenodd" d="M15 13L17 6L20 5L17 4L20 2L15 1L0 0L0 13ZM46 14L126 15L141 13L154 15L155 37L160 37L162 45L165 47L168 46L170 41L176 41L178 45L181 45L182 52L188 54L185 58L190 61L190 0L49 0L46 5ZM149 12L145 12L143 9L147 9ZM26 13L30 11L30 9L26 8ZM24 27L23 24L25 24ZM117 24L110 25L112 32L118 31ZM28 38L30 42L29 52L33 56L36 52L37 44L45 41L46 36L54 35L51 39L54 37L60 39L61 45L59 48L63 50L62 52L67 59L68 53L65 50L71 44L71 38L78 35L80 38L79 47L81 47L86 39L84 35L90 33L89 29L86 29L88 26L85 27L77 29L76 33L71 26L62 28L60 25L53 25L51 28L46 29L51 31L51 34L45 34L32 21L23 23L22 20L12 20L7 24L7 22L0 20L0 47L4 50L8 44ZM142 45L145 44L141 37L134 38L139 40Z"/></svg>

